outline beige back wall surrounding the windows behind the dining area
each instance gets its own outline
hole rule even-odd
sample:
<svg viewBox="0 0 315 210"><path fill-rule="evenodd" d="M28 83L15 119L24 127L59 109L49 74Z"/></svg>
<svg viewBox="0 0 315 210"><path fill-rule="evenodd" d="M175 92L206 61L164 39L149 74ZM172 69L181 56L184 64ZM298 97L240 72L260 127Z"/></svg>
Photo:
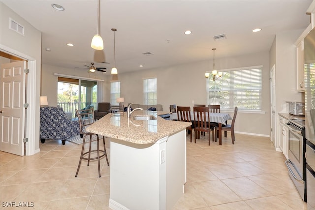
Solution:
<svg viewBox="0 0 315 210"><path fill-rule="evenodd" d="M240 111L236 118L235 129L236 132L269 136L269 52L216 59L215 65L217 70L263 65L262 110L265 113L252 114ZM191 107L193 106L192 101L195 104L205 104L207 92L204 73L208 70L212 70L211 59L161 69L119 74L121 97L125 98L125 105L128 103L142 104L143 78L157 77L158 103L163 105L164 111L169 110L170 104ZM109 101L109 97L107 101ZM233 112L230 114L233 115Z"/></svg>

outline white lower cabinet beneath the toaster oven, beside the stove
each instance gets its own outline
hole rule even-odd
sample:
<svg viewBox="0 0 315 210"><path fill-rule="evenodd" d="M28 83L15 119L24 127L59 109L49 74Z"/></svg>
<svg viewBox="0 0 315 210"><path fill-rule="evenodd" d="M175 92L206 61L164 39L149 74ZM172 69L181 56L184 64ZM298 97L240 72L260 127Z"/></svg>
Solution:
<svg viewBox="0 0 315 210"><path fill-rule="evenodd" d="M278 135L278 145L280 150L284 153L284 156L286 159L288 159L288 128L285 126L285 124L288 122L287 119L279 116L279 135Z"/></svg>

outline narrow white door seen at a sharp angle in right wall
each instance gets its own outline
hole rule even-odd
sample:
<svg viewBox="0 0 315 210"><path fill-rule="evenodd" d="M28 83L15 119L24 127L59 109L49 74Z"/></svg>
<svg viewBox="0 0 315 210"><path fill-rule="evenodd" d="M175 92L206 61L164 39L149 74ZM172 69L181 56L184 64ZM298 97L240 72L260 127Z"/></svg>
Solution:
<svg viewBox="0 0 315 210"><path fill-rule="evenodd" d="M270 140L275 144L276 136L276 89L275 89L275 65L270 70Z"/></svg>

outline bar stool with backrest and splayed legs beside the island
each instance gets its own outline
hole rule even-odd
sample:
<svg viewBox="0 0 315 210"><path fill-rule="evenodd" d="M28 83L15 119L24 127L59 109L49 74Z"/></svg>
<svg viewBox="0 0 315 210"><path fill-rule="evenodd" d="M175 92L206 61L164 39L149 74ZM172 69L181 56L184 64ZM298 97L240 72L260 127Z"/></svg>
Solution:
<svg viewBox="0 0 315 210"><path fill-rule="evenodd" d="M99 137L98 134L95 133L90 133L87 132L85 129L87 126L93 124L95 122L94 119L94 110L93 107L91 109L86 109L86 110L75 110L79 119L79 125L80 125L80 133L81 135L83 134L83 142L82 142L82 150L81 150L81 155L80 155L80 161L77 169L77 173L75 174L75 177L78 176L79 169L81 166L81 161L87 160L88 161L88 166L90 164L90 160L96 160L98 163L98 177L100 177L100 158L101 157L106 157L107 165L109 166L108 158L107 158L107 153L106 153L106 147L105 147L105 137L103 136L103 145L104 145L104 150L99 150ZM96 135L97 137L97 150L91 150L91 142L92 142L92 136ZM89 151L84 152L84 145L85 145L85 140L86 137L90 136L90 142L89 142ZM97 156L96 157L91 157L91 153L96 152ZM101 155L100 155L101 153Z"/></svg>

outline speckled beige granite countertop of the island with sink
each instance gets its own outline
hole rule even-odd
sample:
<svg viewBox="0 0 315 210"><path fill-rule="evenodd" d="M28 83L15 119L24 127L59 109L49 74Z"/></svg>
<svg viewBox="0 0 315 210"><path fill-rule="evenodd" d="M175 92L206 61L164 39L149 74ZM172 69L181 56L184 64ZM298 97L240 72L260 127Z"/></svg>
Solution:
<svg viewBox="0 0 315 210"><path fill-rule="evenodd" d="M127 112L109 113L87 127L86 131L135 144L150 144L192 125L191 122L165 120L158 116L168 113L136 110L129 119ZM136 115L153 115L157 119L134 120Z"/></svg>

